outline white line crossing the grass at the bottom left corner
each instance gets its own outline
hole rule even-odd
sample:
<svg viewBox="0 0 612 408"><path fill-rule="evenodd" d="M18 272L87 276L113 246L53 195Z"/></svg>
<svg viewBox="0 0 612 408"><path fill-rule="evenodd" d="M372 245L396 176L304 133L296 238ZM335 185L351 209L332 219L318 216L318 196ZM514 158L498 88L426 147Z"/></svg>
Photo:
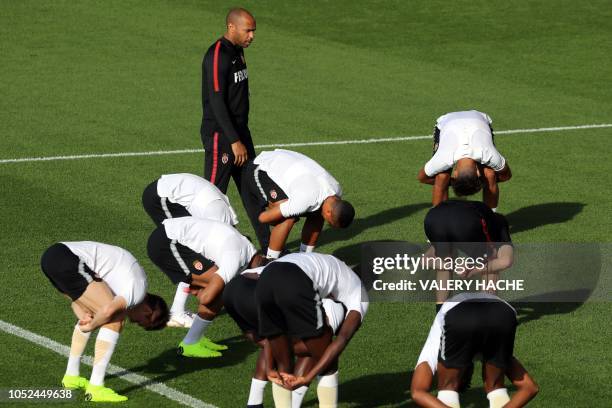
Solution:
<svg viewBox="0 0 612 408"><path fill-rule="evenodd" d="M21 337L27 341L38 344L46 349L56 352L64 357L68 357L70 355L70 347L60 344L56 341L53 341L47 337L40 336L36 333L33 333L29 330L22 329L21 327L15 326L13 324L7 323L3 320L0 320L0 330L6 332L8 334L12 334L17 337ZM91 356L83 356L81 361L88 366L93 366L93 358ZM197 408L216 408L214 405L210 405L201 401L197 398L192 397L191 395L187 395L182 393L174 388L168 387L159 382L155 382L150 378L144 377L139 374L131 373L125 368L121 368L119 366L109 364L106 369L108 374L116 375L117 377L135 384L144 387L145 389L159 394L163 397L171 399L173 401L178 402L179 404L186 405L188 407L197 407Z"/></svg>

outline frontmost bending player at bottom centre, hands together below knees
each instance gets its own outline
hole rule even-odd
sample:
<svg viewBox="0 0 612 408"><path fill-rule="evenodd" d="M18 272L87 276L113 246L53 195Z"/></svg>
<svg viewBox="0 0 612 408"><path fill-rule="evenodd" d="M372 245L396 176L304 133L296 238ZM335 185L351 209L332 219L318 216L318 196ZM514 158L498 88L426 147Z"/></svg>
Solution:
<svg viewBox="0 0 612 408"><path fill-rule="evenodd" d="M344 305L346 316L338 334L323 322L321 299ZM291 389L310 384L321 375L319 406L335 407L338 400L338 358L361 326L368 297L359 277L332 255L285 255L267 265L255 289L259 335L268 340L266 368L273 381L277 407L291 406ZM316 362L303 375L296 371L291 338L301 339Z"/></svg>

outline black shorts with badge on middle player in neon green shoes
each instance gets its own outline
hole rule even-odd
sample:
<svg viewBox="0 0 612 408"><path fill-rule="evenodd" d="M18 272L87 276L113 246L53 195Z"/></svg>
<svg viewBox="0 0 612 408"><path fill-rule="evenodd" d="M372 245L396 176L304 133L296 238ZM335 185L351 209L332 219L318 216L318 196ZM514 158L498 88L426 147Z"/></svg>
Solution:
<svg viewBox="0 0 612 408"><path fill-rule="evenodd" d="M149 236L147 253L174 283L191 283L191 275L200 275L210 269L214 263L202 254L168 238L166 228L161 225Z"/></svg>

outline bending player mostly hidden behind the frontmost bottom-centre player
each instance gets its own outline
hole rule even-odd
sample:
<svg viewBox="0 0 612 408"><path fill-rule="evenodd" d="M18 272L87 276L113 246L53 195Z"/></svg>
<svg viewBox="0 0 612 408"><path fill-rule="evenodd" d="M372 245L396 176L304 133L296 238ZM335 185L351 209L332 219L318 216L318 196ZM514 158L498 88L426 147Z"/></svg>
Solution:
<svg viewBox="0 0 612 408"><path fill-rule="evenodd" d="M257 359L255 373L251 379L251 387L247 401L247 408L263 408L264 389L268 383L265 354L263 352L266 340L257 335L258 318L255 303L255 288L259 280L259 273L263 268L244 271L240 276L232 279L223 291L223 305L228 314L242 330L245 337L258 345L261 350ZM323 299L322 307L325 312L325 324L331 327L332 333L336 334L344 321L346 309L342 303L331 299ZM292 338L293 354L296 357L294 373L297 376L305 375L312 368L315 361L308 352L306 345L301 339ZM320 388L317 393L325 393L325 380L319 382ZM299 408L308 390L308 385L303 385L292 392L292 408ZM325 399L324 396L321 398Z"/></svg>

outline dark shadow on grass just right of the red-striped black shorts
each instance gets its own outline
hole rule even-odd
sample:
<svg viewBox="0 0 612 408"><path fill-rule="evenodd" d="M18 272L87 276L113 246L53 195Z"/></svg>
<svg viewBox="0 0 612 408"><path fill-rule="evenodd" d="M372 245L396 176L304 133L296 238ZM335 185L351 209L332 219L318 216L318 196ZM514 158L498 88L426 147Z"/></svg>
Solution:
<svg viewBox="0 0 612 408"><path fill-rule="evenodd" d="M560 224L573 219L586 204L584 203L545 203L523 207L506 214L510 233L516 234L548 224Z"/></svg>

